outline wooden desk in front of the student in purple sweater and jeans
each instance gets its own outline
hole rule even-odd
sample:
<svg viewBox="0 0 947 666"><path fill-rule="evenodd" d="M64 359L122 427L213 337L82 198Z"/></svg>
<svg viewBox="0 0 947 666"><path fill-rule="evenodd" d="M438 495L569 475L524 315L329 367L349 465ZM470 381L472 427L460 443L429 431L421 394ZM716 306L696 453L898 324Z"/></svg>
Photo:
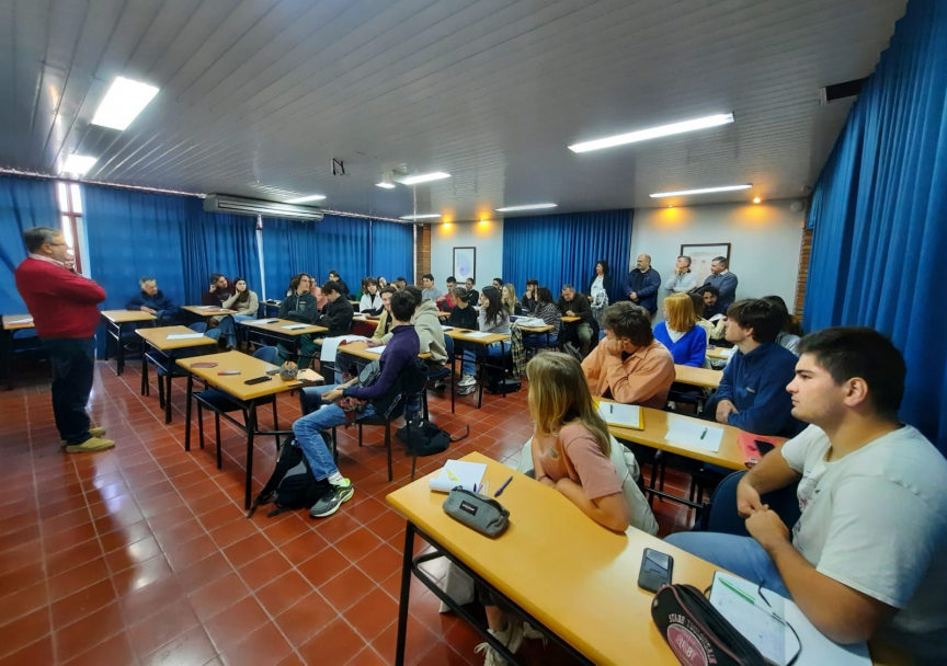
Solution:
<svg viewBox="0 0 947 666"><path fill-rule="evenodd" d="M217 366L214 368L195 368L193 367L195 363L216 363ZM187 402L184 407L184 421L186 423L186 428L184 430L184 450L191 450L191 398L194 395L194 378L197 377L201 381L203 381L208 387L213 387L218 391L226 393L231 397L233 401L244 410L244 414L247 416L247 421L244 423L240 423L233 418L231 418L228 414L223 412L217 412L220 416L224 416L231 423L233 423L237 427L243 429L247 433L247 479L246 479L246 491L243 494L243 508L250 508L250 491L251 484L253 480L253 437L256 435L273 435L277 437L279 435L288 435L292 434L292 430L281 430L276 424L276 411L274 406L273 415L274 415L274 428L273 430L258 430L256 429L256 406L261 398L267 398L270 395L275 395L276 393L283 393L285 391L289 391L294 388L303 386L301 380L293 380L293 381L283 381L279 378L279 375L273 375L270 381L263 381L255 384L247 384L246 381L248 379L253 379L255 377L265 377L267 370L273 370L278 368L279 366L275 366L273 364L265 363L260 360L259 358L253 358L252 356L248 356L247 354L241 354L240 352L226 352L223 354L208 354L206 356L191 356L189 358L179 358L178 365L187 370ZM225 370L239 370L240 375L219 375ZM319 377L319 381L322 380L321 375L317 375ZM199 437L203 447L204 443L204 428L203 423L198 424L199 427ZM220 464L220 443L219 443L219 433L218 433L218 443L217 443L217 461L218 467Z"/></svg>

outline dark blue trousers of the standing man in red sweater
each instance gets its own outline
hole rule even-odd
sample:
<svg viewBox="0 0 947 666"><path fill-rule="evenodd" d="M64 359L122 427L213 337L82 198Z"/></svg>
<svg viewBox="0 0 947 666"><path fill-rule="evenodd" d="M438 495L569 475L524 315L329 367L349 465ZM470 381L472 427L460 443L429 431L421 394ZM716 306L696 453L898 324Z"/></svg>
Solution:
<svg viewBox="0 0 947 666"><path fill-rule="evenodd" d="M45 338L42 342L53 370L53 416L56 418L56 429L67 444L82 444L92 437L89 434L85 404L95 374L95 338Z"/></svg>

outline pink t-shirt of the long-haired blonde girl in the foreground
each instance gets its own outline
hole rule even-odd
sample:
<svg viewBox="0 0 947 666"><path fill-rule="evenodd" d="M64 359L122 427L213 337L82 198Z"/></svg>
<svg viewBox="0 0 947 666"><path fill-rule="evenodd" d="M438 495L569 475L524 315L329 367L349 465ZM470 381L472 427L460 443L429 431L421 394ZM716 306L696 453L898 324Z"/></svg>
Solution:
<svg viewBox="0 0 947 666"><path fill-rule="evenodd" d="M533 435L533 462L551 481L569 476L582 486L589 500L621 492L621 480L608 457L598 448L598 443L581 423L562 426L559 436Z"/></svg>

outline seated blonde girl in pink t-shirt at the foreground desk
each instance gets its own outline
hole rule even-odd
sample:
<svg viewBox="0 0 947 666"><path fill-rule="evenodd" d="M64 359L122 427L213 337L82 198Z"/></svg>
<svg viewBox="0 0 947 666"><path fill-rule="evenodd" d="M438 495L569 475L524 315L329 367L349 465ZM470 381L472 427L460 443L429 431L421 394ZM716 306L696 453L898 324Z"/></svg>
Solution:
<svg viewBox="0 0 947 666"><path fill-rule="evenodd" d="M641 521L640 516L635 520L625 501L621 479L609 459L608 426L582 381L579 361L567 354L539 354L526 366L526 376L529 416L535 423L530 449L536 481L564 495L604 528L624 532L630 524ZM543 638L528 623L521 624L504 612L486 586L476 588L490 633L510 652L515 653L524 638ZM481 643L475 652L484 653L484 664L505 663L489 643Z"/></svg>

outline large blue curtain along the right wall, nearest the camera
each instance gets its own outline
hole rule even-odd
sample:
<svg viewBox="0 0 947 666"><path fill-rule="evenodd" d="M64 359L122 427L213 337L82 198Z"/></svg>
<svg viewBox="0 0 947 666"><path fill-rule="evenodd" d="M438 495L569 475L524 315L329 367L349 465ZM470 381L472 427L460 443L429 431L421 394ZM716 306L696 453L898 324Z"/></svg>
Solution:
<svg viewBox="0 0 947 666"><path fill-rule="evenodd" d="M812 195L807 331L865 325L908 363L901 418L947 453L947 3L911 0Z"/></svg>

